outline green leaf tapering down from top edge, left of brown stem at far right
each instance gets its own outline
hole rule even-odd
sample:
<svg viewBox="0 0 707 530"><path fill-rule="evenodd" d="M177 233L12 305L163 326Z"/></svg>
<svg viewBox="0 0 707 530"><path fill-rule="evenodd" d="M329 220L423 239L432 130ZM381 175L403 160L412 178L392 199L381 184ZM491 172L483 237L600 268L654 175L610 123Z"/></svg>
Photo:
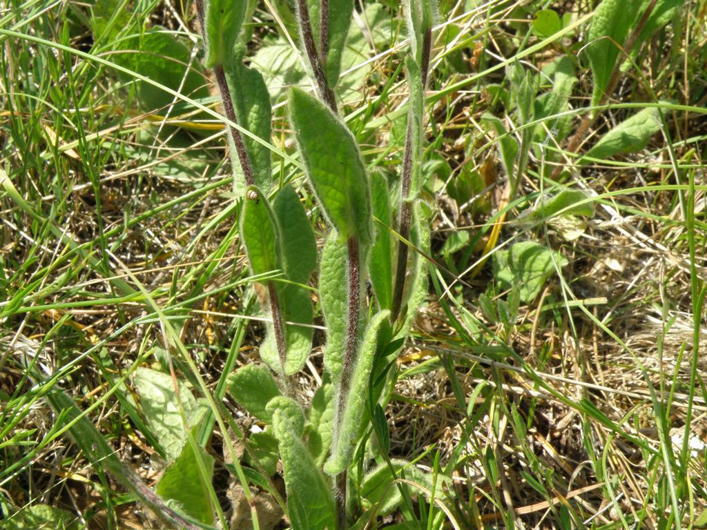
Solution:
<svg viewBox="0 0 707 530"><path fill-rule="evenodd" d="M609 86L614 67L621 54L629 30L641 11L642 0L602 0L597 6L589 28L587 55L594 76L592 105L597 105ZM595 42L592 42L595 41ZM626 50L629 52L630 50Z"/></svg>

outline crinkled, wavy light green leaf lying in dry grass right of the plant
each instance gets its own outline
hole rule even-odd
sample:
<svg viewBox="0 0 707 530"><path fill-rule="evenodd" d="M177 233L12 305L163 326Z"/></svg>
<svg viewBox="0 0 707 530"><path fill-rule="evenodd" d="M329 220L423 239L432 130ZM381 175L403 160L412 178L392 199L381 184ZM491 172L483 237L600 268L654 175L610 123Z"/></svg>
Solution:
<svg viewBox="0 0 707 530"><path fill-rule="evenodd" d="M518 285L520 300L532 302L566 257L532 241L515 243L510 250L493 254L493 276L506 290Z"/></svg>

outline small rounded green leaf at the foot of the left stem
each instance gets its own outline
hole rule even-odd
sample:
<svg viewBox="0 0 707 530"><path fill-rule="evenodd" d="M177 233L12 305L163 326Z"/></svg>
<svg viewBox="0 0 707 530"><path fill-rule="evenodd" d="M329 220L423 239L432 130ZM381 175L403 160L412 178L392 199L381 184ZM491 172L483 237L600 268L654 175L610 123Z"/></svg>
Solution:
<svg viewBox="0 0 707 530"><path fill-rule="evenodd" d="M266 406L271 399L280 395L277 382L264 365L245 365L227 379L228 391L233 399L259 420L269 421Z"/></svg>

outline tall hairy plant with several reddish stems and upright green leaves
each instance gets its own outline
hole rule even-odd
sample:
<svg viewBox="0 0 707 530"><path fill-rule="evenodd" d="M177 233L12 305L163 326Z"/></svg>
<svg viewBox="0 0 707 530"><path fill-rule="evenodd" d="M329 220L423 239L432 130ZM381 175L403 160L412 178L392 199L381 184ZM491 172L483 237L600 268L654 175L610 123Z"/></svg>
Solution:
<svg viewBox="0 0 707 530"><path fill-rule="evenodd" d="M249 365L230 376L230 391L239 404L268 425L265 438L251 439L254 448L266 439L276 440L270 447L279 447L283 461L287 513L293 527L301 529L348 526L349 466L356 447L366 446L368 423L373 418L366 411L373 411L374 406L382 410L378 401L385 377L376 373L378 382L373 385L373 366L390 368L390 357L414 316L406 304L414 300L410 307L416 307L425 285L421 258L413 253L409 259L408 246L410 239L418 248L428 245L426 220L417 201L433 8L429 2L411 1L406 6L411 102L397 202L400 242L395 275L390 232L387 226L373 225L368 172L354 135L337 113L334 88L353 8L349 0L309 5L302 0L296 6L301 49L320 99L293 88L288 116L305 174L332 227L319 263L329 382L315 395L307 430L305 411L293 399L288 378L305 365L312 344L313 313L306 283L317 265L314 232L293 188L275 186L271 177L269 152L264 149L271 122L267 88L257 70L243 65L243 45L237 44L245 11L217 1L198 8L206 28L206 62L214 69L226 116L238 124L238 128L228 128L228 137L237 174L235 189L242 192L244 201L241 239L253 275L277 275L262 282L260 299L271 324L260 356L279 384L266 368ZM226 52L232 49L240 51ZM388 213L390 219L393 206L386 202L387 182L378 178L375 187L376 213ZM371 282L378 295L370 307L363 297L369 261L375 264ZM372 386L378 391L371 391ZM392 470L391 480L395 478Z"/></svg>

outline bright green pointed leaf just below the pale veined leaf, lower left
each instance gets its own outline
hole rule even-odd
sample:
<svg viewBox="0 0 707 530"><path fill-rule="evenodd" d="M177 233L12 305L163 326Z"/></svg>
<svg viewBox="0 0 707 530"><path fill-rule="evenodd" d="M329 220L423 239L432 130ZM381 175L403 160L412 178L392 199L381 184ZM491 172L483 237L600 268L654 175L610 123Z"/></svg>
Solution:
<svg viewBox="0 0 707 530"><path fill-rule="evenodd" d="M214 476L214 457L196 445L199 454L194 454L191 444L185 444L179 457L165 469L156 491L160 497L177 502L181 512L204 524L214 522L214 508L209 498L209 484ZM199 472L200 459L208 476ZM206 483L204 481L208 481Z"/></svg>

